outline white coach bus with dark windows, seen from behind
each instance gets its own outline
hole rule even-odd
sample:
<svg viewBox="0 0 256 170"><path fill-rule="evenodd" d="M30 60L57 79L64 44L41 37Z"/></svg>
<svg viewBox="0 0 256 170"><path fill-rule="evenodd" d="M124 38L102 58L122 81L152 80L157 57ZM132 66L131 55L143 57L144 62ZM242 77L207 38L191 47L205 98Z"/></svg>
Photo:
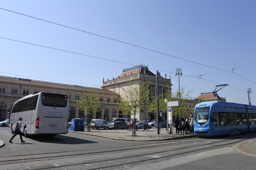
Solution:
<svg viewBox="0 0 256 170"><path fill-rule="evenodd" d="M20 117L21 132L28 135L66 134L69 130L69 100L67 95L39 92L25 96L10 108L9 128L13 132Z"/></svg>

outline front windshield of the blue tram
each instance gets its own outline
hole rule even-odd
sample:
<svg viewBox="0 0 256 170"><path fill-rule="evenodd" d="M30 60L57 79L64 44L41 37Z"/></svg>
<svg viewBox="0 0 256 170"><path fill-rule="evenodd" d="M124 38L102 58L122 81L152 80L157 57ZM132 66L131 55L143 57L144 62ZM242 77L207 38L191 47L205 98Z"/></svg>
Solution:
<svg viewBox="0 0 256 170"><path fill-rule="evenodd" d="M195 111L195 121L203 125L208 121L210 107L197 107Z"/></svg>

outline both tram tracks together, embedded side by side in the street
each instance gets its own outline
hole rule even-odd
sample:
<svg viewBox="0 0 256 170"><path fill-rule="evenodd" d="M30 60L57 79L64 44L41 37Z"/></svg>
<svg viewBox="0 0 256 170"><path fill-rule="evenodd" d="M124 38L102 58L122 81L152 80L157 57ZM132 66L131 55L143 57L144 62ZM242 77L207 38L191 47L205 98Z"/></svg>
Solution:
<svg viewBox="0 0 256 170"><path fill-rule="evenodd" d="M145 143L136 146L84 149L66 152L47 152L24 155L2 155L0 165L21 163L22 170L39 169L126 169L175 159L187 155L232 147L248 140L249 134L241 138L187 138ZM55 162L53 164L53 162ZM36 166L26 166L34 165ZM10 168L16 170L15 168ZM20 168L17 168L20 169ZM6 169L7 170L7 169Z"/></svg>

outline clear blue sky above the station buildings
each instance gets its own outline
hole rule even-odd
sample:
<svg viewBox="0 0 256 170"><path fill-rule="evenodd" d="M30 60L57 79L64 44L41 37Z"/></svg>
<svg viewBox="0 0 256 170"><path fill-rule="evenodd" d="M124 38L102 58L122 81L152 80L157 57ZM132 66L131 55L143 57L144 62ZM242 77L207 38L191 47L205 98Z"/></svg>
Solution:
<svg viewBox="0 0 256 170"><path fill-rule="evenodd" d="M0 8L0 75L100 87L143 64L179 88L182 68L192 98L228 84L220 97L248 104L252 88L256 105L255 0L2 0Z"/></svg>

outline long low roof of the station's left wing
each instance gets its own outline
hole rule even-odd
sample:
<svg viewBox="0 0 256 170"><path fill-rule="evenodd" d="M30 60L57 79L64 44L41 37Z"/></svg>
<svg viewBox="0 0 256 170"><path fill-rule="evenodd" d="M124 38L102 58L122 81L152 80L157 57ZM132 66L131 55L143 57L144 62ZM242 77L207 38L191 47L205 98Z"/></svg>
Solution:
<svg viewBox="0 0 256 170"><path fill-rule="evenodd" d="M13 84L20 84L20 85L31 85L31 86L38 86L38 87L50 87L56 89L67 89L67 90L76 90L76 91L91 91L91 87L84 87L84 86L76 86L76 85L68 85L68 84L59 84L59 83L51 83L51 82L43 82L37 80L30 80L30 79L22 79L22 78L12 78L12 77L2 77L0 76L0 83L13 83ZM99 94L113 94L117 95L115 92L106 89L99 89L94 88L96 92Z"/></svg>

